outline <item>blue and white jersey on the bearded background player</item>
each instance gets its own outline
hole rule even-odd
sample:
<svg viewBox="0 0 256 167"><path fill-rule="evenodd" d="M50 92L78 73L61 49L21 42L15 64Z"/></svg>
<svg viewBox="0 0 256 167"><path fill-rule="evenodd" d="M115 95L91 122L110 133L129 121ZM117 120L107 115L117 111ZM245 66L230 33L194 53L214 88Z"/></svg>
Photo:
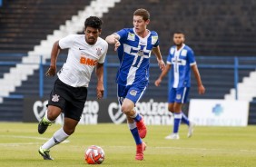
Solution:
<svg viewBox="0 0 256 167"><path fill-rule="evenodd" d="M182 44L177 51L176 45L169 50L167 64L172 64L171 85L173 88L191 86L191 66L196 64L192 48Z"/></svg>

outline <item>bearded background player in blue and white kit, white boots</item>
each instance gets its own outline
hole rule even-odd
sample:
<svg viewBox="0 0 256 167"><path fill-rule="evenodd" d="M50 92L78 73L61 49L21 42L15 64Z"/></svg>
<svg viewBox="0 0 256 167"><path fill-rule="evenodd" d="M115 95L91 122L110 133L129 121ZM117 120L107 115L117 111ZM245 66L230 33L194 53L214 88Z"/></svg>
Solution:
<svg viewBox="0 0 256 167"><path fill-rule="evenodd" d="M191 87L191 69L198 85L198 93L202 94L205 89L202 85L201 76L199 74L192 48L184 44L185 35L181 31L173 34L173 45L170 48L167 57L165 69L155 81L155 85L159 86L162 78L172 69L171 90L168 97L168 110L174 113L173 132L166 136L165 139L179 139L179 126L181 121L189 126L188 137L192 136L192 123L184 113L182 113L182 104L186 103Z"/></svg>

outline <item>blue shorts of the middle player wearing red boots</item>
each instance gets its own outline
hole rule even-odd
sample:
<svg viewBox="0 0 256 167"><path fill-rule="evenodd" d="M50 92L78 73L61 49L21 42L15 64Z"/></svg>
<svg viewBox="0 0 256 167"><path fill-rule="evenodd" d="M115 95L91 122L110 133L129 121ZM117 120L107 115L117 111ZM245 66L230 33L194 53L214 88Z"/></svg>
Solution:
<svg viewBox="0 0 256 167"><path fill-rule="evenodd" d="M123 100L127 98L133 101L133 103L135 104L142 98L146 88L147 88L147 85L132 84L132 85L123 86L123 85L117 84L118 102L122 105Z"/></svg>

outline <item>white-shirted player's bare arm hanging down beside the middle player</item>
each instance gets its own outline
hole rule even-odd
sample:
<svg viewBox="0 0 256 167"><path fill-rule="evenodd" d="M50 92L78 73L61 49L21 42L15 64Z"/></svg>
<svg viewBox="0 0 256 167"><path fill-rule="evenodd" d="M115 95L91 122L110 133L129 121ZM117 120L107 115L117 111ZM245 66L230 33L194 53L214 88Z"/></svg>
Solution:
<svg viewBox="0 0 256 167"><path fill-rule="evenodd" d="M97 98L102 99L104 93L104 86L103 86L103 64L96 65L96 75L98 78L97 82Z"/></svg>

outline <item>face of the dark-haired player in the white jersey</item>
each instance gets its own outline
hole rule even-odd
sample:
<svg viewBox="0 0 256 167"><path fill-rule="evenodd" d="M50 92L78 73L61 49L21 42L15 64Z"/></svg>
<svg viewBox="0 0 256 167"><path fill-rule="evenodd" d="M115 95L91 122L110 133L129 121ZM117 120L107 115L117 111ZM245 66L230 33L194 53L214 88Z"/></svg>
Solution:
<svg viewBox="0 0 256 167"><path fill-rule="evenodd" d="M87 26L86 29L84 30L86 43L91 45L95 44L101 32L102 30Z"/></svg>

